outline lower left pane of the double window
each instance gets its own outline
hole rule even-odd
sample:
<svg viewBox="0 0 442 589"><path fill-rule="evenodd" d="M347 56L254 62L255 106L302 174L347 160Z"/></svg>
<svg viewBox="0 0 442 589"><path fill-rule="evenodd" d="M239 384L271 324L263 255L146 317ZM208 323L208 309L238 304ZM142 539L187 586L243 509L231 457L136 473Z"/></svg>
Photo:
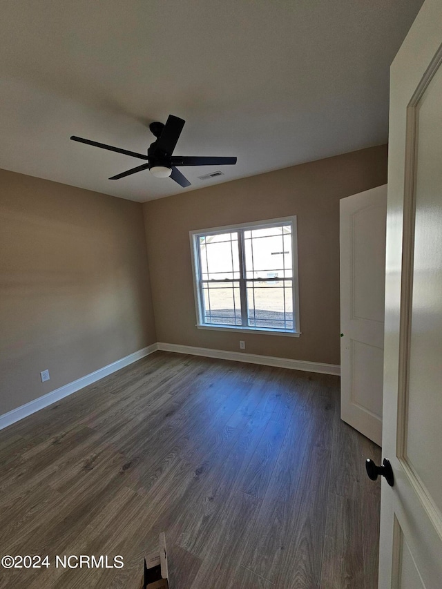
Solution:
<svg viewBox="0 0 442 589"><path fill-rule="evenodd" d="M205 282L202 293L204 323L241 325L240 285L238 282L215 282L214 284Z"/></svg>

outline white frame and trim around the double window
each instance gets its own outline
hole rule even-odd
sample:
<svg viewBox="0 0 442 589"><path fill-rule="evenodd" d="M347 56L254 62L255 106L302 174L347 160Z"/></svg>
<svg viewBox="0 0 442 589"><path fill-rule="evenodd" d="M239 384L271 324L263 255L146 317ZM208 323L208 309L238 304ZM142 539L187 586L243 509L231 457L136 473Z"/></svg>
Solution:
<svg viewBox="0 0 442 589"><path fill-rule="evenodd" d="M266 229L273 226L290 225L291 226L291 255L292 255L292 269L293 278L285 279L292 280L292 294L293 294L293 329L278 329L276 327L248 327L245 325L215 325L204 322L204 305L202 302L202 288L201 288L201 265L200 265L200 237L203 235L216 235L217 233L229 233L238 229ZM195 311L198 329L214 329L216 331L237 331L238 333L260 333L277 336L291 336L299 337L300 322L299 322L299 288L298 288L298 232L296 224L296 215L291 217L282 217L278 219L267 219L264 221L252 221L248 223L240 223L236 225L226 225L222 227L211 227L209 229L197 229L189 231L189 238L191 242L191 260L192 260L192 274L193 274L193 293L195 296ZM241 251L240 247L240 251ZM240 254L241 255L241 254ZM246 280L244 264L241 265L242 276L238 282L244 283ZM244 307L244 287L240 289L241 294L241 311L247 313Z"/></svg>

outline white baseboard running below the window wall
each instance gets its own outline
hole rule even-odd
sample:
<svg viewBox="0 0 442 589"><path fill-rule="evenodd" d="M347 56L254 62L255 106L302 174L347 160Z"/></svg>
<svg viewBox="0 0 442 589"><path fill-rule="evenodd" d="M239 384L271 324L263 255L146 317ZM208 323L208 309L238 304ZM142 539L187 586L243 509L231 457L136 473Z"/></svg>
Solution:
<svg viewBox="0 0 442 589"><path fill-rule="evenodd" d="M320 372L321 374L335 374L336 376L340 375L340 366L336 364L305 362L305 360L291 360L291 358L260 356L259 354L243 354L239 351L225 351L220 349L183 346L179 344L166 344L164 342L158 342L158 349L175 351L178 354L192 354L193 356L207 356L208 358L221 358L222 360L236 360L237 362L263 364L265 366L276 366L278 368Z"/></svg>

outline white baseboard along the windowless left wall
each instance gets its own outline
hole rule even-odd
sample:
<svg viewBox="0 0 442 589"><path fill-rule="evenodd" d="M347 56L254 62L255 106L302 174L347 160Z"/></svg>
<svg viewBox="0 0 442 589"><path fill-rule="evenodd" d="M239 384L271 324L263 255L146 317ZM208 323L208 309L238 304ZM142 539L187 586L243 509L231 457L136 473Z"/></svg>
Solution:
<svg viewBox="0 0 442 589"><path fill-rule="evenodd" d="M132 364L133 362L144 358L144 356L152 354L154 351L157 351L157 349L158 345L155 343L139 349L138 351L134 351L133 354L129 354L112 364L108 364L99 370L95 370L95 372L91 372L90 374L86 374L86 376L74 380L73 383L68 383L68 385L64 385L64 387L55 389L55 391L26 403L26 405L21 405L21 407L17 407L8 413L0 415L0 429L8 427L8 425L11 425L16 421L20 421L20 419L39 411L39 409L52 405L52 403L55 403L57 400L67 397L68 395L79 391L79 389L83 389L84 387L95 383L97 380L104 378L104 376L108 376L108 374L112 374L113 372Z"/></svg>

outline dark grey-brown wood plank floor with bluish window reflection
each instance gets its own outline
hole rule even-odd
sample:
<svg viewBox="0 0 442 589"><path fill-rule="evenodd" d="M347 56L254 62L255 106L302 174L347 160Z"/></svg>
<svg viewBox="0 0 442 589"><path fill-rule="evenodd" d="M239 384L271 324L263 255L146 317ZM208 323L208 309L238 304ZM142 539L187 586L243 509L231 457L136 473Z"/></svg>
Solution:
<svg viewBox="0 0 442 589"><path fill-rule="evenodd" d="M0 587L139 589L164 531L171 589L375 589L380 452L336 376L155 352L0 432L1 555L51 563Z"/></svg>

